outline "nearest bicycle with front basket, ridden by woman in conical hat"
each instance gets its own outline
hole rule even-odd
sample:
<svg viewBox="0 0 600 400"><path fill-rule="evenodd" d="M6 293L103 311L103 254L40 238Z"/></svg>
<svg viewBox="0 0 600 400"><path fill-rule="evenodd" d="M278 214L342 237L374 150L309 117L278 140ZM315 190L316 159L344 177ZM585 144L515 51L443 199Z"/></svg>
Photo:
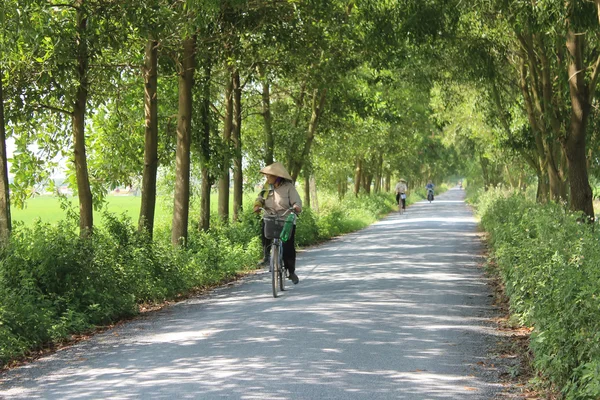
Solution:
<svg viewBox="0 0 600 400"><path fill-rule="evenodd" d="M264 209L261 208L263 211ZM269 269L271 271L271 286L273 289L273 297L277 297L279 292L285 291L285 280L289 278L288 269L283 265L283 240L281 240L281 231L285 225L286 214L296 213L293 208L289 208L281 217L273 214L265 214L263 220L265 222L265 238L272 239L271 243L271 261Z"/></svg>

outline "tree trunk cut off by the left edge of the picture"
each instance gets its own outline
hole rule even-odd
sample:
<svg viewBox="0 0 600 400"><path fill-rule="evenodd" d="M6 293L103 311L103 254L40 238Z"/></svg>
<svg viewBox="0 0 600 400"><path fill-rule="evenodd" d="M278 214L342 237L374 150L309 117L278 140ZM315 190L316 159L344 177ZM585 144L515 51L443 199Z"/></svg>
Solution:
<svg viewBox="0 0 600 400"><path fill-rule="evenodd" d="M4 93L2 78L4 72L0 68L0 244L5 245L10 239L12 220L10 217L10 197L8 185L8 160L6 158L6 125L4 121Z"/></svg>

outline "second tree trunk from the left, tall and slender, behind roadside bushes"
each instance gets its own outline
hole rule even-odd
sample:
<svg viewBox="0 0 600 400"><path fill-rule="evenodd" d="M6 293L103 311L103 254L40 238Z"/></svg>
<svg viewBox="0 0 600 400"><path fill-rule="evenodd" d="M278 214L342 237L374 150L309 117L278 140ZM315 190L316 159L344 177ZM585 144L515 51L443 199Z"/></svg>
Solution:
<svg viewBox="0 0 600 400"><path fill-rule="evenodd" d="M77 11L77 91L73 103L73 152L75 176L79 195L79 231L81 236L91 235L94 229L92 191L85 152L85 113L88 98L89 54L85 40L87 16L83 8Z"/></svg>

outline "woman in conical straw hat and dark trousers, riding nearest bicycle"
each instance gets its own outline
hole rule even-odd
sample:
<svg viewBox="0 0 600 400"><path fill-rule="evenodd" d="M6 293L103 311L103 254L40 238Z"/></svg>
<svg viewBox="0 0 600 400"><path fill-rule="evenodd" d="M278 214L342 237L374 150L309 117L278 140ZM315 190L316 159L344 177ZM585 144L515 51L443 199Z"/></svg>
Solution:
<svg viewBox="0 0 600 400"><path fill-rule="evenodd" d="M265 182L263 190L261 190L258 198L254 202L254 212L259 212L261 208L264 208L267 214L276 214L279 217L283 217L290 208L293 208L296 214L302 212L302 200L300 199L300 195L296 190L296 186L294 186L292 177L281 163L276 162L267 165L260 170L260 173L265 175L267 181ZM289 272L290 279L294 284L297 284L299 279L295 273L295 233L296 226L294 225L290 238L283 243L283 263ZM271 240L265 238L264 222L261 229L261 237L264 252L263 263L267 265L269 264L269 257L271 254Z"/></svg>

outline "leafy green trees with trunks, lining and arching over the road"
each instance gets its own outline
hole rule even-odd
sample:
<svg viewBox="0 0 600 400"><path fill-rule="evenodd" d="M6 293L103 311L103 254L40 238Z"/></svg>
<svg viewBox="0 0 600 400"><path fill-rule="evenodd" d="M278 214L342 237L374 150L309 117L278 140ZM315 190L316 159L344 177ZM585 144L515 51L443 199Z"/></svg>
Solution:
<svg viewBox="0 0 600 400"><path fill-rule="evenodd" d="M116 185L141 187L138 226L152 234L156 182L171 176L172 242L185 242L196 193L200 229L216 183L221 221L230 209L239 219L256 171L273 160L307 203L311 180L342 197L400 176L418 187L471 174L486 186L537 182L540 201L593 216L592 3L3 6L23 27L2 39L13 203L67 157L82 234Z"/></svg>

